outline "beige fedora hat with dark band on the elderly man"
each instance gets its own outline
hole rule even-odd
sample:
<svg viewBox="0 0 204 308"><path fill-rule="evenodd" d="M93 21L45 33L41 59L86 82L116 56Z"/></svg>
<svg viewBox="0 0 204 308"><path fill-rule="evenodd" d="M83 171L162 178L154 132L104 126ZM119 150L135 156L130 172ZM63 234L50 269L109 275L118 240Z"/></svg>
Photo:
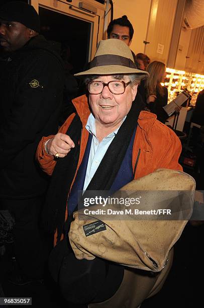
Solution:
<svg viewBox="0 0 204 308"><path fill-rule="evenodd" d="M128 45L121 40L108 39L99 41L96 53L89 63L89 69L74 76L131 73L138 74L140 80L149 76L147 71L137 69Z"/></svg>

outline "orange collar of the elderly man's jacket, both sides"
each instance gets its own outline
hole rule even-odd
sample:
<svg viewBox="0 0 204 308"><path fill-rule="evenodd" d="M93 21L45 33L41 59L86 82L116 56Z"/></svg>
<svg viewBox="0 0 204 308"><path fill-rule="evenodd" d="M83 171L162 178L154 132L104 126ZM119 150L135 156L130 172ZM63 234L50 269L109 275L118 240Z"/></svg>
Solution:
<svg viewBox="0 0 204 308"><path fill-rule="evenodd" d="M76 111L80 117L80 120L82 122L82 126L84 127L87 123L88 116L90 114L90 109L88 106L88 101L86 95L79 96L72 100L72 103L74 107L76 108ZM138 118L138 125L141 129L148 132L150 127L154 124L156 121L156 115L153 113L150 113L148 111L141 111Z"/></svg>

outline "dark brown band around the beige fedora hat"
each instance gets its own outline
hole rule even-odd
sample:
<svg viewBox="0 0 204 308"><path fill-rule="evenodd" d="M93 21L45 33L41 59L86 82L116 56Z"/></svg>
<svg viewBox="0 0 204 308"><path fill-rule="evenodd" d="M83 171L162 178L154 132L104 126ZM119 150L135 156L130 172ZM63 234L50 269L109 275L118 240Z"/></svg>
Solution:
<svg viewBox="0 0 204 308"><path fill-rule="evenodd" d="M103 54L94 57L92 61L90 61L89 63L89 68L95 66L104 66L104 65L122 65L137 69L135 63L131 59L115 54Z"/></svg>

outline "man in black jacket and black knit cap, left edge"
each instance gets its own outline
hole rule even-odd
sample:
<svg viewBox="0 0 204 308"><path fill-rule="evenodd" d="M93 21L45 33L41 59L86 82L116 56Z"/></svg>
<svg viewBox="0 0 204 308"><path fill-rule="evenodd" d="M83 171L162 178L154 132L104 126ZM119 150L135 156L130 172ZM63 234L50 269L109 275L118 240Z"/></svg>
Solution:
<svg viewBox="0 0 204 308"><path fill-rule="evenodd" d="M44 273L38 220L48 178L36 164L35 150L42 136L57 132L64 87L55 43L39 33L32 6L10 2L0 8L0 209L15 216L16 259L28 276L14 279L16 284Z"/></svg>

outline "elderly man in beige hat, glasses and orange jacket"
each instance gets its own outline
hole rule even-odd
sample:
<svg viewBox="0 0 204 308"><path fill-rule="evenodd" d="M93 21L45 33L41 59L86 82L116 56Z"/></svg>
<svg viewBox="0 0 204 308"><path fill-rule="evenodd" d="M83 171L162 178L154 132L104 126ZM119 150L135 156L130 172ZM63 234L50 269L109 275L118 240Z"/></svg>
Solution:
<svg viewBox="0 0 204 308"><path fill-rule="evenodd" d="M124 42L100 41L90 68L77 75L85 79L87 97L73 100L76 113L37 150L41 168L52 175L45 217L56 242L79 190L117 191L158 168L181 170L177 136L154 114L140 112L137 87L148 73L136 68Z"/></svg>

